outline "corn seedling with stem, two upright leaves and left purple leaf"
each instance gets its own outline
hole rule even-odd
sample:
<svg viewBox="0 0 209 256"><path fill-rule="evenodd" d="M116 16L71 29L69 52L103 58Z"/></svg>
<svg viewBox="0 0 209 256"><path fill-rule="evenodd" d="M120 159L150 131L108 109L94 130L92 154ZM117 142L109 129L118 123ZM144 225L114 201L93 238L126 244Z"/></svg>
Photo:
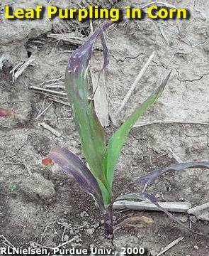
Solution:
<svg viewBox="0 0 209 256"><path fill-rule="evenodd" d="M103 31L111 24L111 22L103 23L103 26L98 28L83 46L74 50L69 58L65 75L66 92L89 169L78 156L63 147L57 146L53 148L47 158L43 159L43 164L48 165L54 161L73 176L84 191L94 197L104 214L104 233L106 238L113 234L113 202L111 201L111 194L115 166L120 151L137 119L162 95L171 73L166 76L157 90L126 119L112 135L106 146L104 129L96 116L92 101L89 102L88 100L89 85L86 74L94 42L98 36L100 36L103 46L103 68L108 65L108 48Z"/></svg>

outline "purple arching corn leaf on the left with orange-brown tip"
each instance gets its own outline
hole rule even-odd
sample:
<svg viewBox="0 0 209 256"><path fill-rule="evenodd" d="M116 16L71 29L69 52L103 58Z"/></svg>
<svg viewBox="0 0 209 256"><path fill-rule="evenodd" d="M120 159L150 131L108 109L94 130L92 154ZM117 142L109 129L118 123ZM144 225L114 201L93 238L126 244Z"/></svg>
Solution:
<svg viewBox="0 0 209 256"><path fill-rule="evenodd" d="M74 177L79 186L87 193L94 197L98 206L103 210L103 197L98 182L91 171L82 163L78 156L65 149L64 147L55 146L45 159L43 164L51 164L50 159L58 164L64 171Z"/></svg>

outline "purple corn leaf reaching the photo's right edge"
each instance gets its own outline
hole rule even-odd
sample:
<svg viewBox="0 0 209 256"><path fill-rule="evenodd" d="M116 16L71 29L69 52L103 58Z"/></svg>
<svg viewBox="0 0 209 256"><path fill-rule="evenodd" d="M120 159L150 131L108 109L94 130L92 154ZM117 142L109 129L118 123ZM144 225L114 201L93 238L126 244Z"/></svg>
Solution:
<svg viewBox="0 0 209 256"><path fill-rule="evenodd" d="M159 178L159 176L162 176L167 171L181 171L183 169L188 169L188 168L209 169L209 161L197 161L197 162L172 164L171 166L168 166L165 169L157 169L145 176L137 178L137 180L135 180L135 183L142 184L142 185L152 184L154 181L157 180L157 178Z"/></svg>

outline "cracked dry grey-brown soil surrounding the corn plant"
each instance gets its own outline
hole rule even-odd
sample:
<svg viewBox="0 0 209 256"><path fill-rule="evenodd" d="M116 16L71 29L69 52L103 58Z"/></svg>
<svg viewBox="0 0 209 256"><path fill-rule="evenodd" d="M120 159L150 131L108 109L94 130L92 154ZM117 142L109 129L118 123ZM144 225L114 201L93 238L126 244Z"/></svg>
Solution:
<svg viewBox="0 0 209 256"><path fill-rule="evenodd" d="M209 9L205 1L171 3L179 7L188 4L191 18L188 21L149 19L138 24L119 24L106 34L110 63L105 77L110 110L117 109L145 61L156 52L123 110L122 120L153 92L166 72L173 69L162 97L142 116L140 126L132 129L123 147L115 171L113 200L122 195L135 178L176 163L169 149L182 161L209 159L209 21L206 15ZM94 26L98 26L97 21ZM120 228L115 231L112 242L105 240L103 218L92 198L57 166L42 166L41 161L52 146L65 146L82 157L81 145L70 108L51 101L44 93L29 90L28 86L49 85L51 90L64 92L62 85L71 54L69 50L76 49L77 44L55 41L47 36L77 33L77 37L85 39L90 32L88 22L81 27L59 21L48 29L36 36L29 33L19 38L18 35L17 39L14 37L13 41L0 44L1 53L10 55L0 72L0 105L17 113L15 117L0 119L1 234L15 247L56 247L74 238L63 248L115 247L120 250L121 247L145 247L147 255L157 255L162 247L184 237L164 255L209 255L208 237L189 232L161 212L115 212L115 224L142 215L152 218L153 223L138 229ZM100 47L99 41L96 46ZM10 70L31 53L35 56L34 62L12 82ZM100 68L102 63L102 53L95 49L91 65ZM89 80L91 85L90 77ZM53 88L57 85L61 87ZM63 101L62 97L56 99ZM52 134L40 125L41 122L59 131L60 135ZM114 131L110 122L106 136L109 138ZM154 194L158 201L188 201L192 206L199 206L208 202L208 183L208 170L187 169L159 178L147 187L147 192ZM16 189L11 189L11 185ZM126 189L126 192L133 191L142 191L142 187ZM174 215L193 230L209 233L207 209L200 219L186 213ZM4 239L1 246L5 246L3 242Z"/></svg>

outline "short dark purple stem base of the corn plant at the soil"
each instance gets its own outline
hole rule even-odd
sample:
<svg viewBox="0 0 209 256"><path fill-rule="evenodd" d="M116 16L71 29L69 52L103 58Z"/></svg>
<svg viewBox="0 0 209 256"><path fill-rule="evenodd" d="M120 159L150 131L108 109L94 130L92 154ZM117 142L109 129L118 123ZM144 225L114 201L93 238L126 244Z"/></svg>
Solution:
<svg viewBox="0 0 209 256"><path fill-rule="evenodd" d="M113 238L113 203L106 208L104 215L104 235L105 238Z"/></svg>

